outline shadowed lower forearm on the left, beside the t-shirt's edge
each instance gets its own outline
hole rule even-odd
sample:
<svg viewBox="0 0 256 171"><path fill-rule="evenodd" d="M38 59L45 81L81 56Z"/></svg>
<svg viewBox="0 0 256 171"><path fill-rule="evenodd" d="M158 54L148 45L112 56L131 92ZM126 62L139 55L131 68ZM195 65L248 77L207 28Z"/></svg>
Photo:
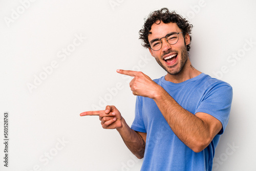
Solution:
<svg viewBox="0 0 256 171"><path fill-rule="evenodd" d="M121 135L125 145L130 151L139 159L144 157L145 141L143 138L134 130L122 118L122 126L117 129Z"/></svg>

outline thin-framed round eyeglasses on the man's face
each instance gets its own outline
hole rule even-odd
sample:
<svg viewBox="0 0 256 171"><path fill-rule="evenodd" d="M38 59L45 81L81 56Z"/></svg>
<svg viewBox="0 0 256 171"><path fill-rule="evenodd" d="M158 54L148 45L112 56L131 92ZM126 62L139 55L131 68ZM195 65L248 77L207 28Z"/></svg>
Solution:
<svg viewBox="0 0 256 171"><path fill-rule="evenodd" d="M179 35L182 32L179 32L179 33L176 33L176 32L170 32L168 34L166 34L165 39L166 41L168 42L168 44L170 45L174 45L178 42L179 40ZM164 38L162 37L162 38ZM156 39L153 39L150 41L150 43L148 45L150 45L150 48L153 50L153 51L158 51L162 48L162 38L156 38Z"/></svg>

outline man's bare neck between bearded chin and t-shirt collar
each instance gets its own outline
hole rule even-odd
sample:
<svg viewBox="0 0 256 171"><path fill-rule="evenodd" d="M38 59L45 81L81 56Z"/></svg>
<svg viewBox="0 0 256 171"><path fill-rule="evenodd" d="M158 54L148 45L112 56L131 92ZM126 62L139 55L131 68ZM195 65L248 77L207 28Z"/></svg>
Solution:
<svg viewBox="0 0 256 171"><path fill-rule="evenodd" d="M187 58L187 61L184 65L184 67L182 68L181 72L179 72L176 75L170 75L169 73L167 73L167 75L165 75L165 80L174 82L174 83L180 83L180 82L186 81L188 79L194 78L194 77L198 76L199 74L201 74L201 72L196 70L191 65L189 58Z"/></svg>

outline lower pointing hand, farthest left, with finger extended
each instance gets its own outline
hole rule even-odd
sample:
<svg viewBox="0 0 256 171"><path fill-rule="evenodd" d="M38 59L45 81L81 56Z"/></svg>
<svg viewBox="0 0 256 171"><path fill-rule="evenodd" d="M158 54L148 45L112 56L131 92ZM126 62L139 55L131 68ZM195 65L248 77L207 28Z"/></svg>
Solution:
<svg viewBox="0 0 256 171"><path fill-rule="evenodd" d="M122 126L122 116L114 105L106 106L102 111L83 112L80 116L99 116L103 129L118 129Z"/></svg>

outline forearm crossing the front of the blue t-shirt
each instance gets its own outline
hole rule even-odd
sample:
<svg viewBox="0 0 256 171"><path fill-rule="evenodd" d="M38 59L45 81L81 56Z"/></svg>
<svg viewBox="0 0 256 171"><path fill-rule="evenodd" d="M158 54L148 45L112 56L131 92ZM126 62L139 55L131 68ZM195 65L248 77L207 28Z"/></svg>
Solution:
<svg viewBox="0 0 256 171"><path fill-rule="evenodd" d="M154 98L162 115L177 137L196 152L209 142L207 124L196 115L183 109L164 89Z"/></svg>

